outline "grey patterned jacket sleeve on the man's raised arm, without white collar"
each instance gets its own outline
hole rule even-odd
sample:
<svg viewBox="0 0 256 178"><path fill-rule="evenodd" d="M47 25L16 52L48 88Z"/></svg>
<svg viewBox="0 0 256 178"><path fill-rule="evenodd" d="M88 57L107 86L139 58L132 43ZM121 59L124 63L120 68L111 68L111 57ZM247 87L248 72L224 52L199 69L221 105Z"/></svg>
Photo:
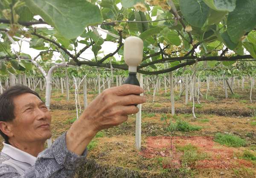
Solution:
<svg viewBox="0 0 256 178"><path fill-rule="evenodd" d="M76 169L84 164L87 149L82 155L67 149L66 132L52 146L39 153L35 165L23 175L9 165L0 164L0 178L72 178Z"/></svg>

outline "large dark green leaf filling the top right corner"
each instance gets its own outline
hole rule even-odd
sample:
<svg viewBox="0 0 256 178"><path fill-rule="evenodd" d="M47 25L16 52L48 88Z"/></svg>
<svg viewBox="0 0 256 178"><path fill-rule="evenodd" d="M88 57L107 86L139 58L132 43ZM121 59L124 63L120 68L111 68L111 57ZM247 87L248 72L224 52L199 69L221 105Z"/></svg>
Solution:
<svg viewBox="0 0 256 178"><path fill-rule="evenodd" d="M234 43L256 27L256 0L237 0L236 9L227 18L227 33Z"/></svg>

